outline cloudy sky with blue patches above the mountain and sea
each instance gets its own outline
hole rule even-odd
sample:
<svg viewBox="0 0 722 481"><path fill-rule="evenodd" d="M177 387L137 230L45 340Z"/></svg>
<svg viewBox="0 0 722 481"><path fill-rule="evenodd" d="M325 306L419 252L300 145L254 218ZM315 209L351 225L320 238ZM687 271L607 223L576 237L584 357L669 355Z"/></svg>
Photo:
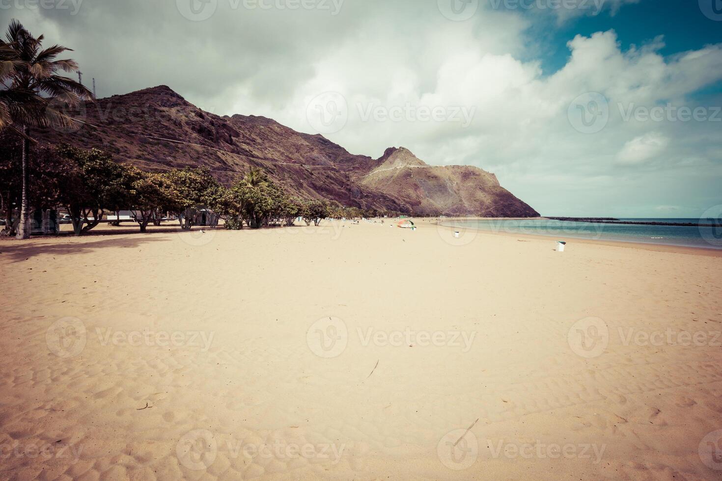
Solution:
<svg viewBox="0 0 722 481"><path fill-rule="evenodd" d="M722 204L722 0L0 0L98 97L168 85L378 158L465 164L547 216Z"/></svg>

